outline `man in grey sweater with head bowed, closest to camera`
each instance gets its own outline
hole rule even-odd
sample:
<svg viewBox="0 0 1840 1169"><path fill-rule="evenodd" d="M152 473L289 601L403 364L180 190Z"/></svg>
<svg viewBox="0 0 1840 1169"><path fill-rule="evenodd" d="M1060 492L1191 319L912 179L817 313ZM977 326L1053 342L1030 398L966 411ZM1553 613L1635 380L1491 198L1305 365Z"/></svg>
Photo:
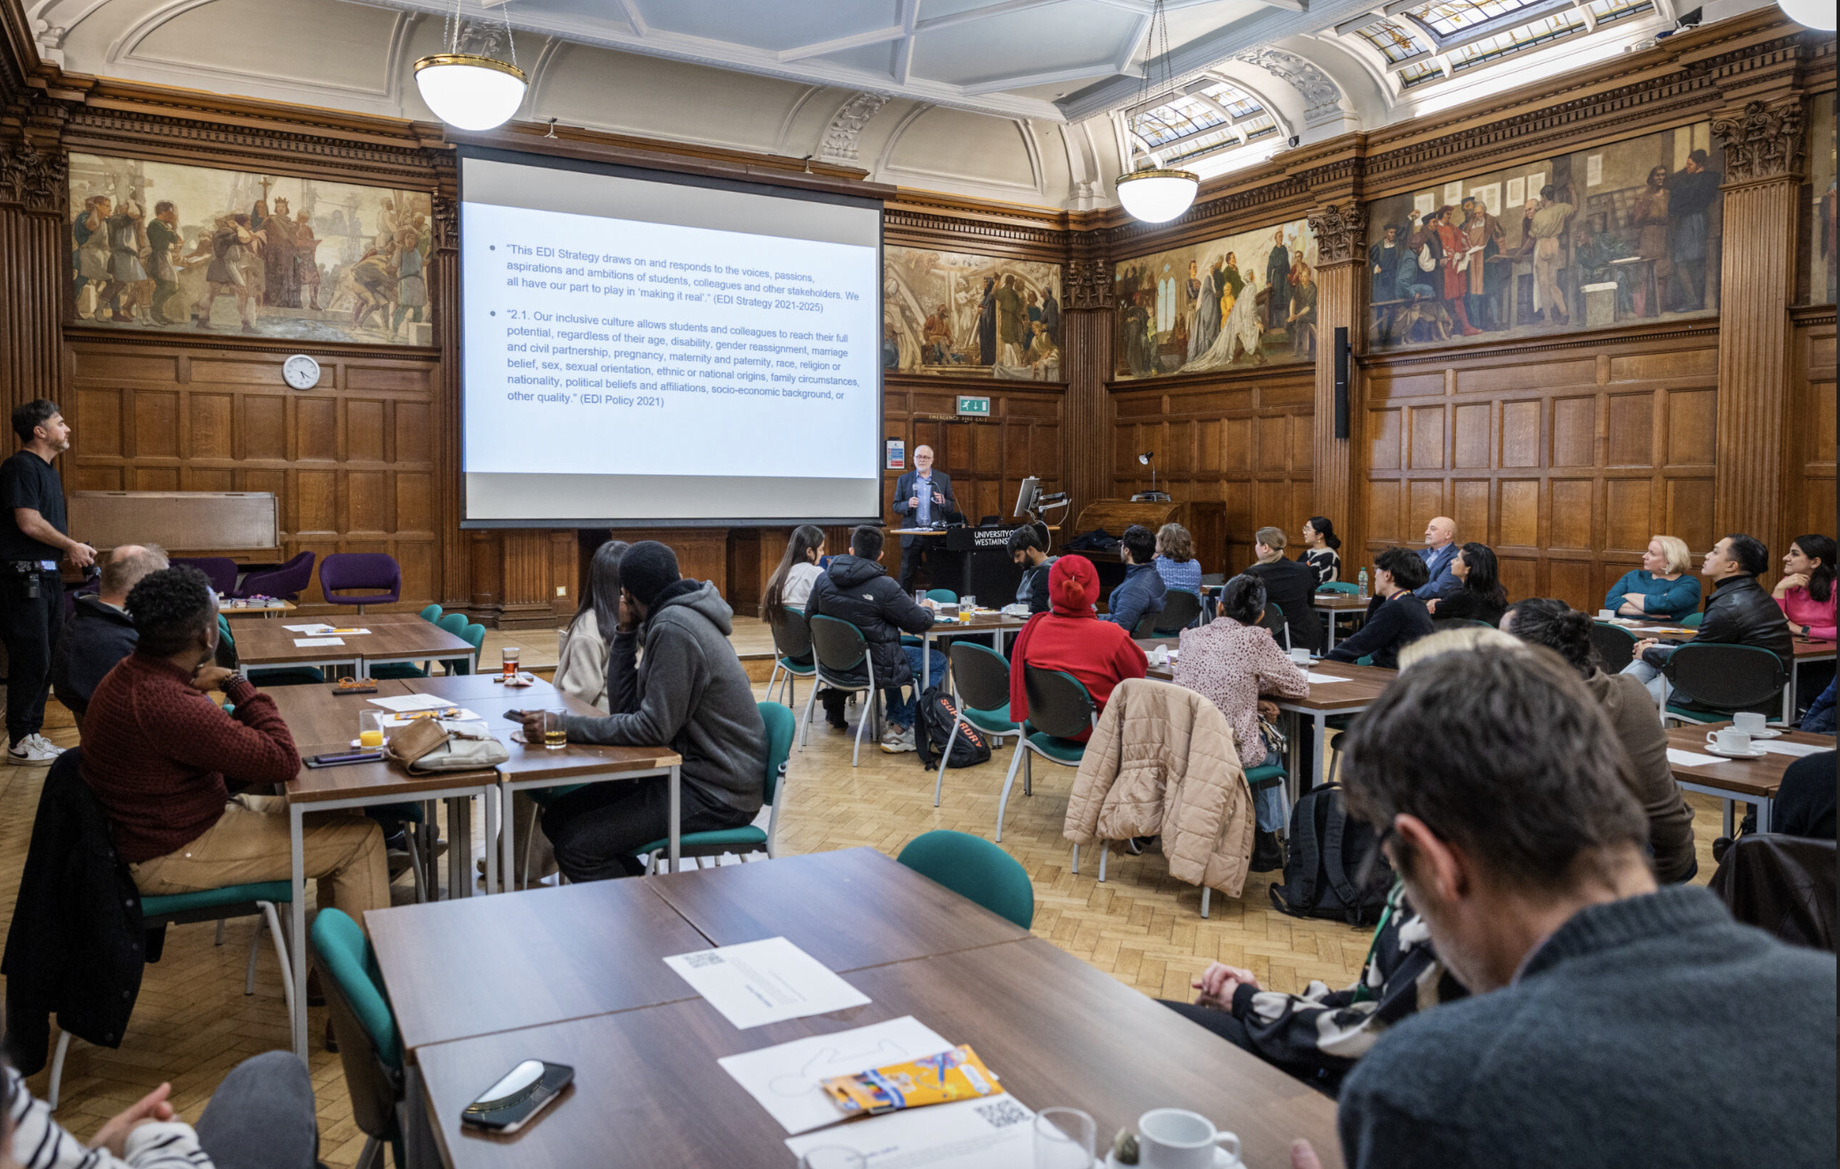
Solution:
<svg viewBox="0 0 1840 1169"><path fill-rule="evenodd" d="M1656 885L1575 670L1444 654L1347 735L1349 812L1472 992L1343 1081L1351 1169L1834 1163L1834 955ZM1299 1141L1292 1165L1317 1158Z"/></svg>

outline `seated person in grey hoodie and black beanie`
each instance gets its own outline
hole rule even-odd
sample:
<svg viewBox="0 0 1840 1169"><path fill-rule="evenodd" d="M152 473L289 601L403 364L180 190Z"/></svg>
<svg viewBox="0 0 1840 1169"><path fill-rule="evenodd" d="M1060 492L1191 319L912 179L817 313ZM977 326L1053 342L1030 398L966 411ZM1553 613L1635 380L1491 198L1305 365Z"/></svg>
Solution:
<svg viewBox="0 0 1840 1169"><path fill-rule="evenodd" d="M765 790L767 727L729 644L734 611L716 585L679 578L677 554L655 539L626 550L620 585L607 648L611 714L570 714L569 742L668 746L684 757L683 832L751 823ZM541 738L541 716L526 718L524 735ZM670 779L570 792L543 814L543 832L572 882L638 876L644 863L633 851L670 832Z"/></svg>

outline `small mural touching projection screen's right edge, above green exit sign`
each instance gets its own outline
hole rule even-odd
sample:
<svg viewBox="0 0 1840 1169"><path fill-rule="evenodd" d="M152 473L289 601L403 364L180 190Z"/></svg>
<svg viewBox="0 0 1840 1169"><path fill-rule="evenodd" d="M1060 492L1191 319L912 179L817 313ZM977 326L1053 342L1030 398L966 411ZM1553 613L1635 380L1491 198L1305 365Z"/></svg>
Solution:
<svg viewBox="0 0 1840 1169"><path fill-rule="evenodd" d="M881 366L1060 381L1060 265L889 245Z"/></svg>

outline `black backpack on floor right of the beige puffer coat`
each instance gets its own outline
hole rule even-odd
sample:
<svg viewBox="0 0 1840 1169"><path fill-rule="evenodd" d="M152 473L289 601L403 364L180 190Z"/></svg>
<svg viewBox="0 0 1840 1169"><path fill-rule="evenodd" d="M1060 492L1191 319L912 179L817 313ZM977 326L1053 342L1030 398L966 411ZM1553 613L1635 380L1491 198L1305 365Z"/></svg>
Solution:
<svg viewBox="0 0 1840 1169"><path fill-rule="evenodd" d="M1306 792L1290 810L1290 858L1284 862L1284 884L1271 885L1271 904L1292 917L1374 924L1393 884L1393 867L1386 863L1386 854L1374 854L1376 845L1373 825L1349 819L1340 784ZM1373 871L1367 885L1356 887L1369 858Z"/></svg>

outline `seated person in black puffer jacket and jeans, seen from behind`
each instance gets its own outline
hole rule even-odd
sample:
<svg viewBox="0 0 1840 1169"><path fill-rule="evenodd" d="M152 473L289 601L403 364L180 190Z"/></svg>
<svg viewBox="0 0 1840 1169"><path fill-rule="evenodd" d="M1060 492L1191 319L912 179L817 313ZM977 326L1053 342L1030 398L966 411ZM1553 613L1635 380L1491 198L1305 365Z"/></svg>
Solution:
<svg viewBox="0 0 1840 1169"><path fill-rule="evenodd" d="M902 633L933 628L933 613L914 604L881 567L881 528L868 525L850 532L850 554L832 560L830 569L813 582L806 617L835 617L863 631L876 687L889 694L889 727L881 736L881 749L913 751L914 698L902 698L902 687L918 690L914 674L920 672L920 646L903 646ZM931 668L937 681L946 677L946 655L938 650L933 650ZM846 727L845 694L826 690L822 701L830 725Z"/></svg>

